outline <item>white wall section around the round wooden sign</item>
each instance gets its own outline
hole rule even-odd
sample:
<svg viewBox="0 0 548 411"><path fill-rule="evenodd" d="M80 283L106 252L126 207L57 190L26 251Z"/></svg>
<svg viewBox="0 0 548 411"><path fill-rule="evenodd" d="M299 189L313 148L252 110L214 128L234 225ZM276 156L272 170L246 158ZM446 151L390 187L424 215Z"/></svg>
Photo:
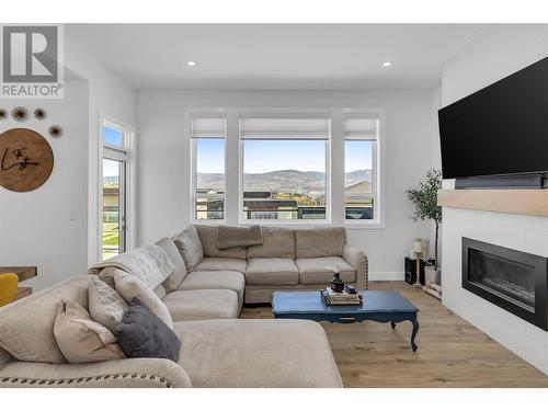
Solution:
<svg viewBox="0 0 548 411"><path fill-rule="evenodd" d="M1 102L8 110L26 107L30 119L0 121L0 133L14 127L34 129L54 151L54 169L44 185L28 193L0 187L0 265L36 265L38 276L24 286L41 289L87 269L88 98L87 81L67 81L62 100ZM46 111L44 121L34 118L37 107ZM48 136L53 124L62 127L62 137Z"/></svg>

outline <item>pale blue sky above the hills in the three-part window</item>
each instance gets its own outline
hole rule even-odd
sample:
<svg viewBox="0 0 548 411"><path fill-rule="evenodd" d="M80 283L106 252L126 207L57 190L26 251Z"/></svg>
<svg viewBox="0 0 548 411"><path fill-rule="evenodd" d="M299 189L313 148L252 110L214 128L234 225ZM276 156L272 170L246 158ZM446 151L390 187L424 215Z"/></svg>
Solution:
<svg viewBox="0 0 548 411"><path fill-rule="evenodd" d="M345 141L345 172L372 168L370 141ZM196 141L197 171L225 172L225 140ZM315 140L247 140L244 172L326 171L326 142Z"/></svg>

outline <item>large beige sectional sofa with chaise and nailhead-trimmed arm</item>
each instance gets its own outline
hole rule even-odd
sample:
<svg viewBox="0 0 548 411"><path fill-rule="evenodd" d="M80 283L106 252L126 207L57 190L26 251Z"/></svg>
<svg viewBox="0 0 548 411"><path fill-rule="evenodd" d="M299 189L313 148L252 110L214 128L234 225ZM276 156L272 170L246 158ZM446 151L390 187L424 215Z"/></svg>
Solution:
<svg viewBox="0 0 548 411"><path fill-rule="evenodd" d="M326 265L367 287L367 259L346 246L344 229L263 227L262 244L228 250L217 248L216 232L189 227L157 242L175 267L153 290L182 341L176 363L67 363L53 332L56 311L61 299L88 309L90 271L0 308L0 387L342 387L318 323L237 318L244 300L267 302L274 289L324 286Z"/></svg>

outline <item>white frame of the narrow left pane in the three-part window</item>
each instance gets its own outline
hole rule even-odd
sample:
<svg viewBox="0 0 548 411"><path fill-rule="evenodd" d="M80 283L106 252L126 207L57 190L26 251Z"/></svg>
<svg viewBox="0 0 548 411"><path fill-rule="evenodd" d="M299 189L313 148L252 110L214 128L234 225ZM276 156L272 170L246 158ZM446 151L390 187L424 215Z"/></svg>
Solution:
<svg viewBox="0 0 548 411"><path fill-rule="evenodd" d="M198 224L198 225L219 225L219 224L226 224L227 222L227 164L228 164L228 118L227 114L225 112L189 112L187 113L187 122L189 122L189 128L187 128L187 135L191 144L191 207L190 207L190 220L191 224ZM193 137L193 119L194 118L221 118L225 121L225 137ZM197 140L198 139L224 139L225 140L225 169L224 169L224 174L225 174L225 194L222 195L222 218L219 219L199 219L196 218L196 190L197 190Z"/></svg>

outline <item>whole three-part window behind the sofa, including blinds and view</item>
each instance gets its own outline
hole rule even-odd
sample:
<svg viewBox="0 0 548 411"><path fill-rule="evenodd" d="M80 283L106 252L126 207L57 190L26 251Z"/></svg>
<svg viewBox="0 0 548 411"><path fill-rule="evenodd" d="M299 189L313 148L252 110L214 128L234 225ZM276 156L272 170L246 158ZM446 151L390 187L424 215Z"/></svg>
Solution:
<svg viewBox="0 0 548 411"><path fill-rule="evenodd" d="M383 118L383 109L189 112L191 220L384 228Z"/></svg>

